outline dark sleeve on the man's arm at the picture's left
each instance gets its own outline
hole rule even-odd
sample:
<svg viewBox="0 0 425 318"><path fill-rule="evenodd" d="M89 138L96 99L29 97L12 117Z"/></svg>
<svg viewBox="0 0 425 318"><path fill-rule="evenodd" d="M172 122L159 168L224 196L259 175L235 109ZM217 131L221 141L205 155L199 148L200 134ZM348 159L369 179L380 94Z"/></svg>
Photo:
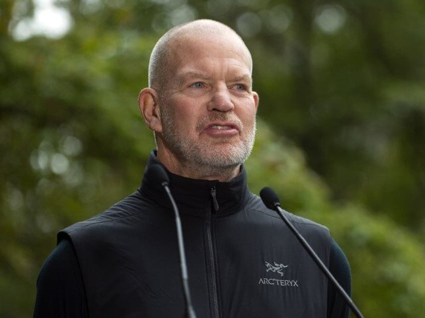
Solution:
<svg viewBox="0 0 425 318"><path fill-rule="evenodd" d="M83 278L74 247L62 239L37 279L34 318L88 317Z"/></svg>

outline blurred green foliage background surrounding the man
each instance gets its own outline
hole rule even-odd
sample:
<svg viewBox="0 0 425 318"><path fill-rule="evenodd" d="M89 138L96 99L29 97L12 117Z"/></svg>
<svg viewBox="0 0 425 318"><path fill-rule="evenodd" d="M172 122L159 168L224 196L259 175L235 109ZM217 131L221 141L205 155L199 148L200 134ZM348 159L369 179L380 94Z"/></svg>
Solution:
<svg viewBox="0 0 425 318"><path fill-rule="evenodd" d="M0 0L0 316L32 315L59 229L139 185L150 50L205 17L253 54L251 189L331 229L364 316L423 316L425 1L59 0L68 31L31 33L46 2Z"/></svg>

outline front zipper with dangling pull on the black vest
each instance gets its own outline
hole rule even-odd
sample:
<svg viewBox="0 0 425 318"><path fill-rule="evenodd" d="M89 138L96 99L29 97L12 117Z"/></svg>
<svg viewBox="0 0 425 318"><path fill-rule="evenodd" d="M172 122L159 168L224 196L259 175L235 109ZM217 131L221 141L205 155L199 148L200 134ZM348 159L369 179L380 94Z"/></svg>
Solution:
<svg viewBox="0 0 425 318"><path fill-rule="evenodd" d="M217 291L217 274L216 274L216 258L214 253L214 244L212 243L212 213L215 213L219 210L219 203L217 202L216 197L216 187L211 187L211 198L212 205L214 206L214 210L212 208L209 209L206 219L206 241L208 245L208 263L209 263L209 278L211 284L211 296L212 296L212 317L220 318L219 314L219 296Z"/></svg>

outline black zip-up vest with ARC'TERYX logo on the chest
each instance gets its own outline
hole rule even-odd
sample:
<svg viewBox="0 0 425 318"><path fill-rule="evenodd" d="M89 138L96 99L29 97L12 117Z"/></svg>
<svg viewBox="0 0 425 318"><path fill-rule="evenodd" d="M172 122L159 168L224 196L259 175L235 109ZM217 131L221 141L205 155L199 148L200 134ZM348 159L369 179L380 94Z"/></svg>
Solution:
<svg viewBox="0 0 425 318"><path fill-rule="evenodd" d="M91 318L185 316L174 215L154 183L145 174L133 194L58 234L75 247ZM230 182L170 174L170 184L198 318L326 317L326 278L249 191L245 169ZM328 265L327 228L288 217Z"/></svg>

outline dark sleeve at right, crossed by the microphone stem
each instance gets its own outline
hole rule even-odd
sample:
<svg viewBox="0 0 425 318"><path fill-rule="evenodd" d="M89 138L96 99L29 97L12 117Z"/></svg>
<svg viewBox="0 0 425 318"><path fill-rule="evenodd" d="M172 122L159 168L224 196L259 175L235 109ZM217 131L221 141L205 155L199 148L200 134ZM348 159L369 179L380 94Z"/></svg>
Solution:
<svg viewBox="0 0 425 318"><path fill-rule="evenodd" d="M341 287L351 296L351 270L347 257L332 238L329 271ZM349 307L334 284L328 282L328 318L348 318Z"/></svg>

